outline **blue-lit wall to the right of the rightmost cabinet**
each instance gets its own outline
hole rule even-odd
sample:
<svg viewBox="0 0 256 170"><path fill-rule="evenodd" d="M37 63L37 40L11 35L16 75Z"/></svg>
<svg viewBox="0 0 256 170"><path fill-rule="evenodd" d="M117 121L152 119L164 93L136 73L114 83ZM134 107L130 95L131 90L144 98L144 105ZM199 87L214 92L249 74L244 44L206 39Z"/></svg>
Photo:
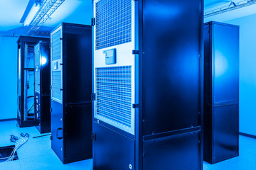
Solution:
<svg viewBox="0 0 256 170"><path fill-rule="evenodd" d="M256 15L226 23L240 26L240 132L256 135Z"/></svg>

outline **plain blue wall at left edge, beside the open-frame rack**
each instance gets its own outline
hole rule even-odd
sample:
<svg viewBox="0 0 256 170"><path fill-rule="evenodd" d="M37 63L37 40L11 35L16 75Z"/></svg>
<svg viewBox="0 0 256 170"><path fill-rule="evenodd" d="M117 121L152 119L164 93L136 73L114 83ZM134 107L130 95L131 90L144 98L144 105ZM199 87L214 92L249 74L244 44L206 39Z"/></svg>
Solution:
<svg viewBox="0 0 256 170"><path fill-rule="evenodd" d="M0 120L17 116L17 40L0 36Z"/></svg>

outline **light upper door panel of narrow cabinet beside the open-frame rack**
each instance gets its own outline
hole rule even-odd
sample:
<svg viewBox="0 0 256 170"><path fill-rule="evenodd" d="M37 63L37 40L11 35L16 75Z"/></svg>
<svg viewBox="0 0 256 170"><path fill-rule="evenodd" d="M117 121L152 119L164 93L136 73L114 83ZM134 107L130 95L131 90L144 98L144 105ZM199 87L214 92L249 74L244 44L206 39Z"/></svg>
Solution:
<svg viewBox="0 0 256 170"><path fill-rule="evenodd" d="M35 91L40 94L40 46L35 46Z"/></svg>

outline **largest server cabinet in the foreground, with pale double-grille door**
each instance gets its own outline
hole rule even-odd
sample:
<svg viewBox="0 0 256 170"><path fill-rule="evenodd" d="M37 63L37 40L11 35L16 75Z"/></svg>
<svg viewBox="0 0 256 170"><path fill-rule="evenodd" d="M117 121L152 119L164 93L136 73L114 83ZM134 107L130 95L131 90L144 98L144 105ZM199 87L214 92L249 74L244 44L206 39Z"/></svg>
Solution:
<svg viewBox="0 0 256 170"><path fill-rule="evenodd" d="M93 169L202 169L203 1L114 2L93 2Z"/></svg>

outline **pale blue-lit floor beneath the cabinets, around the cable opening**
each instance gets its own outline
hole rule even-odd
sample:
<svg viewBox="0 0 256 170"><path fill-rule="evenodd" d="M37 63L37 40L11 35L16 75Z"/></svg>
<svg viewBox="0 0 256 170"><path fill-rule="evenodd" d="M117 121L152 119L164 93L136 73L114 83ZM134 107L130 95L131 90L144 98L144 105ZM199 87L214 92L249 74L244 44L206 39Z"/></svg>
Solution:
<svg viewBox="0 0 256 170"><path fill-rule="evenodd" d="M50 137L33 137L41 135L35 127L18 128L16 121L0 122L0 147L14 145L10 142L10 135L28 133L30 139L18 149L18 160L0 163L1 170L36 170L36 169L81 169L91 170L92 159L63 165L50 148ZM186 162L186 160L184 160ZM240 136L240 157L229 159L218 164L204 162L204 170L250 170L256 169L256 140ZM120 169L122 170L122 169ZM184 169L185 170L185 169Z"/></svg>

